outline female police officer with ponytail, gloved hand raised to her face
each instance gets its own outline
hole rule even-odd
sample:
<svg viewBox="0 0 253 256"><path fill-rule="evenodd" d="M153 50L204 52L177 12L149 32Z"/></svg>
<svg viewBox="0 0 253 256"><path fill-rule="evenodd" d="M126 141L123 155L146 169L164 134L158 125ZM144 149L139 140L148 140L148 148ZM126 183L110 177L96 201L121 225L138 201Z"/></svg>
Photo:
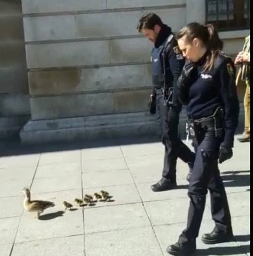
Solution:
<svg viewBox="0 0 253 256"><path fill-rule="evenodd" d="M220 52L223 43L212 25L189 23L177 35L187 61L178 80L179 97L187 105L187 116L197 142L190 179L190 207L187 227L178 242L167 251L172 255L191 255L205 209L207 189L215 228L202 241L215 244L233 237L231 215L219 163L232 157L239 102L233 61Z"/></svg>

